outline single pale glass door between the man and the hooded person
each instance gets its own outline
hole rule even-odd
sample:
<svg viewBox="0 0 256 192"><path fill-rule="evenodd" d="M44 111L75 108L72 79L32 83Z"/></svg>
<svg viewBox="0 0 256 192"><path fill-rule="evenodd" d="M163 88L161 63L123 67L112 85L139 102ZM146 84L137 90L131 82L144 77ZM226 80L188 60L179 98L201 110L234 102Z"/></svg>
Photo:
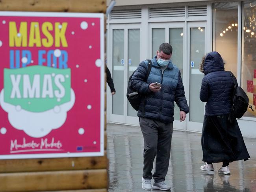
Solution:
<svg viewBox="0 0 256 192"><path fill-rule="evenodd" d="M187 115L187 130L189 131L202 131L204 120L205 103L201 102L199 98L204 74L199 71L199 63L206 54L205 26L205 22L189 22L187 27L187 66L189 66L189 98L187 98L189 114Z"/></svg>

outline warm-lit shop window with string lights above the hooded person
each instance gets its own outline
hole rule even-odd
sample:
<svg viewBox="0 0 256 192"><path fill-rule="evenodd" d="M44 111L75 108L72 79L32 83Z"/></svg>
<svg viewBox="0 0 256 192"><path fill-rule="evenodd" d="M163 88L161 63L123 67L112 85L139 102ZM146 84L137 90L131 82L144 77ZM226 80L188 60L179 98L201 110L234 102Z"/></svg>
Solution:
<svg viewBox="0 0 256 192"><path fill-rule="evenodd" d="M238 2L213 4L213 50L226 62L225 70L237 76Z"/></svg>

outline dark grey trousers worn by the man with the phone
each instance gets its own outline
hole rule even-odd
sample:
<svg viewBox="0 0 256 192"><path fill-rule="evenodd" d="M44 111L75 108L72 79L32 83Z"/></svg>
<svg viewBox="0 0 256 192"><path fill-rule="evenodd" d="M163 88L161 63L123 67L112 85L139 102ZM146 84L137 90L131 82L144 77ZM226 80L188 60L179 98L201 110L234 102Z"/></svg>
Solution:
<svg viewBox="0 0 256 192"><path fill-rule="evenodd" d="M143 178L155 182L165 180L171 154L173 123L164 124L148 118L139 118L139 125L144 138ZM152 175L153 162L156 157L156 171Z"/></svg>

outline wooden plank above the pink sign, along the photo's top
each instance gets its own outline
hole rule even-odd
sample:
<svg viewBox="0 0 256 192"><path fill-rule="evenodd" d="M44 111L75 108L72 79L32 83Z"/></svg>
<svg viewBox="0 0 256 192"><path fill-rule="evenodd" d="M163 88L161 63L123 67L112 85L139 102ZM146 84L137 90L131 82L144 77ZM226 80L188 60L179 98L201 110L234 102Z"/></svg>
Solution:
<svg viewBox="0 0 256 192"><path fill-rule="evenodd" d="M0 11L106 13L106 0L0 0Z"/></svg>

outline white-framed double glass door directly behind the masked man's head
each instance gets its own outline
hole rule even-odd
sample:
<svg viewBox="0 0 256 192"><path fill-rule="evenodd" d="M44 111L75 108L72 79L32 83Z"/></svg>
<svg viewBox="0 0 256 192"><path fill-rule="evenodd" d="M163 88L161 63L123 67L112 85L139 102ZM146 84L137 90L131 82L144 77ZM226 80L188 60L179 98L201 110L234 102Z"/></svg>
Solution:
<svg viewBox="0 0 256 192"><path fill-rule="evenodd" d="M152 46L149 50L148 55L152 57L156 56L156 51L159 46L163 42L169 42L173 47L173 54L171 56L171 60L174 65L176 65L181 72L182 80L186 83L186 79L184 79L183 66L185 65L185 22L168 22L168 23L157 23L150 24L151 35L150 38L152 40ZM186 129L186 122L180 122L180 109L174 102L174 129Z"/></svg>

